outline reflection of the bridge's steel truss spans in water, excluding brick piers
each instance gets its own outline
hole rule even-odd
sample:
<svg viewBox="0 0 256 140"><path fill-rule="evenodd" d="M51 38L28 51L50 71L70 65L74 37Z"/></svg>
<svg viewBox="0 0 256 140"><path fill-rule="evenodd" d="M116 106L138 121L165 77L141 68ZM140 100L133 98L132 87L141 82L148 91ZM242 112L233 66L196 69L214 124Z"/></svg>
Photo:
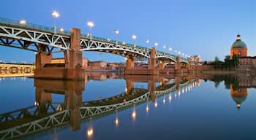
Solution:
<svg viewBox="0 0 256 140"><path fill-rule="evenodd" d="M154 91L155 96L159 98L176 91L176 83L170 83L170 85L172 85L170 88ZM188 85L189 81L184 82L179 86L180 88L185 88ZM129 101L122 101L117 104L89 106L88 103L83 102L83 106L80 107L80 119L85 120L89 117L103 117L115 112L117 109L123 110L136 104L143 104L148 101L149 97L150 92L148 91L140 96L130 99ZM30 109L33 111L29 111ZM68 109L62 110L61 105L54 107L53 104L47 104L47 109L52 110L53 113L50 113L48 116L39 118L38 120L33 120L29 123L20 124L18 126L0 131L0 139L15 139L29 133L37 133L39 131L48 130L49 128L58 127L60 125L67 125L70 122L70 111ZM38 114L38 106L29 106L26 109L20 109L13 112L0 114L0 123L7 120L15 120L19 119L20 117L36 114Z"/></svg>

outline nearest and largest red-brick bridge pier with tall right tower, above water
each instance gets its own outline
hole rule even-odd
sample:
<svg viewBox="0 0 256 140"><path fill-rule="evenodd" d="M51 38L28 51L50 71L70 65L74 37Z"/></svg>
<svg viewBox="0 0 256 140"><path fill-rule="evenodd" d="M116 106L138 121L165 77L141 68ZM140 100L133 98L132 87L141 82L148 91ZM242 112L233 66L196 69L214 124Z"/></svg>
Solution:
<svg viewBox="0 0 256 140"><path fill-rule="evenodd" d="M42 47L46 52L46 47ZM41 50L42 50L41 49ZM42 50L42 51L43 51ZM83 80L82 52L80 51L80 29L71 29L70 48L64 52L64 64L50 64L51 55L39 52L36 56L35 78ZM45 64L50 64L45 66Z"/></svg>

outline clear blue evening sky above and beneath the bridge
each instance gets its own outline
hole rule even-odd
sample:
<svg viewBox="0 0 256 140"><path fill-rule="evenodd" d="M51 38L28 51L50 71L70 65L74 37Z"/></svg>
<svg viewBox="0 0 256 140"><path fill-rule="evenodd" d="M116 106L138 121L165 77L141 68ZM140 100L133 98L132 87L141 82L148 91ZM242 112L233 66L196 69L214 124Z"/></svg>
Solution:
<svg viewBox="0 0 256 140"><path fill-rule="evenodd" d="M28 23L53 26L54 9L60 17L56 26L65 30L80 28L87 34L87 21L94 22L91 34L157 50L175 50L187 55L200 55L203 61L220 60L230 55L230 47L241 34L248 55L256 55L255 0L0 0L0 18L25 19ZM114 31L118 29L116 36ZM150 42L147 45L146 39ZM63 54L54 54L54 58ZM118 55L83 52L91 61L123 62ZM34 62L34 52L0 46L1 61Z"/></svg>

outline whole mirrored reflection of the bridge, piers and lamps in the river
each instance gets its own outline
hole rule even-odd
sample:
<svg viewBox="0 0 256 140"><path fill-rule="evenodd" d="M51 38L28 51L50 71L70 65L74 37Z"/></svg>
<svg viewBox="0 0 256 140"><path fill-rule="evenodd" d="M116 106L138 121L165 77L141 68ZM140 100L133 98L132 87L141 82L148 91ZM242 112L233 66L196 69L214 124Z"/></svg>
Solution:
<svg viewBox="0 0 256 140"><path fill-rule="evenodd" d="M177 77L175 75L148 77L141 75L122 76L110 73L99 76L101 75L99 74L99 77L125 79L126 90L116 96L96 101L83 101L82 93L85 90L85 83L94 78L92 75L97 77L96 73L89 73L86 75L87 80L83 82L34 79L36 94L34 106L0 114L0 139L15 139L68 124L71 131L75 131L80 129L81 120L104 117L130 107L134 107L132 119L135 120L136 105L146 103L149 100L157 103L157 98L161 96L170 95L176 90L177 93L180 93L181 89L184 92L184 89L191 89L192 85L199 83L192 77ZM148 84L148 89L135 88L134 82L145 82ZM53 102L53 93L63 95L64 101L61 103ZM171 100L171 95L169 100ZM146 106L146 112L148 110L148 106ZM115 125L118 125L117 117ZM92 129L89 130L88 134L91 133L93 133Z"/></svg>

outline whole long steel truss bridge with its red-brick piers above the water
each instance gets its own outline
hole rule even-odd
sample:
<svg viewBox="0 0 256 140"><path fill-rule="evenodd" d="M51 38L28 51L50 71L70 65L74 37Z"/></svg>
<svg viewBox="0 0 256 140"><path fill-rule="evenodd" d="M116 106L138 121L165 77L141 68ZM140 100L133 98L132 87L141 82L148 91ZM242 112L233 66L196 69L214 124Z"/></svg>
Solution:
<svg viewBox="0 0 256 140"><path fill-rule="evenodd" d="M53 79L83 79L82 51L108 52L127 58L125 74L182 73L182 67L192 70L192 61L167 52L118 42L97 36L80 34L80 29L56 31L56 28L20 23L0 18L0 45L36 52L34 77ZM64 63L50 64L54 52L64 52ZM135 61L148 59L146 68L135 68ZM167 69L168 63L175 66Z"/></svg>

